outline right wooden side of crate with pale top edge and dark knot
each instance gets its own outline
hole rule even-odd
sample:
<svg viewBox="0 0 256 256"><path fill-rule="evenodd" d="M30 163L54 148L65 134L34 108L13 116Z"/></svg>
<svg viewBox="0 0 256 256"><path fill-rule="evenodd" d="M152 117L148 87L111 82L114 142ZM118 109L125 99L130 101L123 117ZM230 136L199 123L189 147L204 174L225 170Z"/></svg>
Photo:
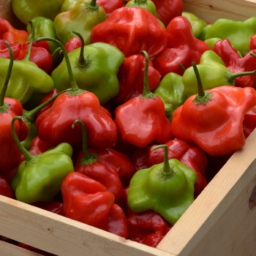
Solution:
<svg viewBox="0 0 256 256"><path fill-rule="evenodd" d="M256 130L192 203L157 248L178 256L255 255Z"/></svg>

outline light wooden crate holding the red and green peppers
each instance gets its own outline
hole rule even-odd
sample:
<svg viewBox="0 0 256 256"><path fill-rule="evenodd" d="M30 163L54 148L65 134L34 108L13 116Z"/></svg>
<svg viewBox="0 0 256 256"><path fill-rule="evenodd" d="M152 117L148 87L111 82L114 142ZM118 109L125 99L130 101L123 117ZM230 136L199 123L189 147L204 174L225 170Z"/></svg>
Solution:
<svg viewBox="0 0 256 256"><path fill-rule="evenodd" d="M0 16L17 23L10 0ZM184 1L200 18L245 20L253 1ZM20 26L21 27L21 26ZM227 161L157 248L0 196L0 235L56 255L249 256L256 255L256 131ZM38 255L0 241L0 255Z"/></svg>

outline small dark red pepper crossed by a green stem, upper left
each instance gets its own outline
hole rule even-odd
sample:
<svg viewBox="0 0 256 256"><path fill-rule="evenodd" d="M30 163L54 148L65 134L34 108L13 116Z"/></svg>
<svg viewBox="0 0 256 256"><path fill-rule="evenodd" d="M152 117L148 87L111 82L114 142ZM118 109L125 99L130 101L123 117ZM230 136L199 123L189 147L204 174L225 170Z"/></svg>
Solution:
<svg viewBox="0 0 256 256"><path fill-rule="evenodd" d="M32 44L29 61L32 61L35 64L37 64L37 66L40 69L44 70L45 72L49 72L53 64L52 56L50 55L49 51L46 50L45 48L35 46L35 45L37 44L35 43ZM20 56L18 56L18 60L22 60L26 57L26 53L28 52L28 49L29 49L29 42L27 41L23 44L23 48L20 52Z"/></svg>

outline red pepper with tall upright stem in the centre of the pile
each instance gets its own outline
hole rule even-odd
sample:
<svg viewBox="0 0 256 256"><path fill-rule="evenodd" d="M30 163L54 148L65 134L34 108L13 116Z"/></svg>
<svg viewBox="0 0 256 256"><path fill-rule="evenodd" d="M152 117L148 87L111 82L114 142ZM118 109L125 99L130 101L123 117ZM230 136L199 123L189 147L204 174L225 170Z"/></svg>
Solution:
<svg viewBox="0 0 256 256"><path fill-rule="evenodd" d="M172 138L171 124L165 116L162 99L148 88L148 53L143 50L146 64L143 78L143 94L129 99L116 108L116 127L122 140L143 148L152 141L165 143Z"/></svg>

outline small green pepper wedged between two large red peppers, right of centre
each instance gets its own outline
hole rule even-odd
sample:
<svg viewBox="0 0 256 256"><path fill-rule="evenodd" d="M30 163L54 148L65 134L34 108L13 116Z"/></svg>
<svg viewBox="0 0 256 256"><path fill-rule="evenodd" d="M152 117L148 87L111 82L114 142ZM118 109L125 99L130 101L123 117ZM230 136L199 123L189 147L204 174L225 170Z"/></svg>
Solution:
<svg viewBox="0 0 256 256"><path fill-rule="evenodd" d="M154 90L154 94L161 97L165 103L165 116L172 121L173 112L187 99L184 91L182 76L174 72L170 72L162 78L161 82Z"/></svg>

